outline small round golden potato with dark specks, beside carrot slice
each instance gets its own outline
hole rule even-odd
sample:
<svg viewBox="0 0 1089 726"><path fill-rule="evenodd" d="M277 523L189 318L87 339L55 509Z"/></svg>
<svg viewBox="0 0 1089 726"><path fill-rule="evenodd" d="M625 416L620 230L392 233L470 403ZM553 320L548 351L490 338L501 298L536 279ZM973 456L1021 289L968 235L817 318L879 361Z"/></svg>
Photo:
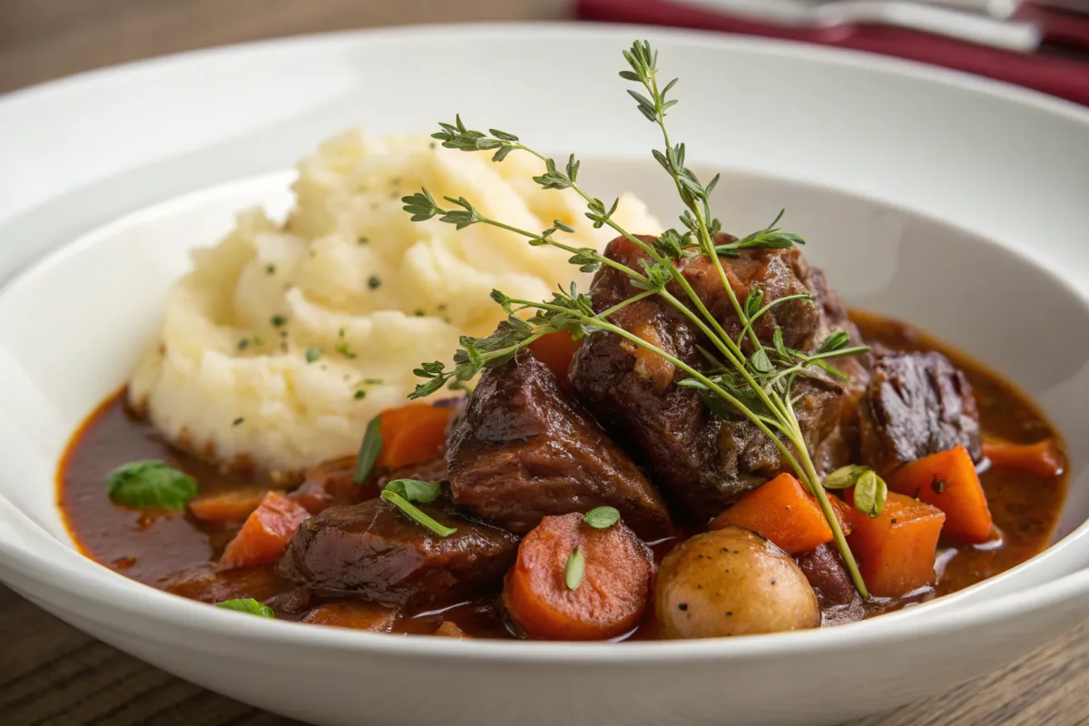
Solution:
<svg viewBox="0 0 1089 726"><path fill-rule="evenodd" d="M820 626L791 556L741 527L697 534L662 561L654 610L666 638L720 638Z"/></svg>

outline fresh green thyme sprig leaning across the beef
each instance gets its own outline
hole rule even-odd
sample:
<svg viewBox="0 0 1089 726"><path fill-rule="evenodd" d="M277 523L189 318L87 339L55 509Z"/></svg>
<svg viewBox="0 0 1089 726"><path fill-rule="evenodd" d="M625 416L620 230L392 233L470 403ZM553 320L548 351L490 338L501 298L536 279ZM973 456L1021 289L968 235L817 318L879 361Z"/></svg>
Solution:
<svg viewBox="0 0 1089 726"><path fill-rule="evenodd" d="M560 242L561 234L571 234L573 227L556 220L552 226L540 233L522 230L490 219L464 197L443 197L450 207L440 206L427 189L403 198L405 211L413 221L438 218L462 230L474 224L487 224L519 234L534 246L549 245L572 255L570 262L584 272L594 272L607 264L625 274L632 286L640 291L608 310L595 313L590 298L579 293L574 283L567 290L552 293L552 299L544 303L511 298L499 291L492 298L503 307L506 319L499 329L487 337L461 339L461 349L454 355L454 366L448 370L439 361L423 364L416 374L424 382L416 386L411 397L418 398L435 393L443 385L460 386L472 380L482 369L497 367L509 361L518 349L551 332L566 331L575 336L608 332L658 354L670 361L688 378L677 384L697 390L709 409L727 420L744 418L755 424L776 446L786 464L806 488L817 497L821 510L832 529L834 540L852 579L864 596L868 596L866 585L857 564L847 546L839 519L832 509L824 487L813 466L812 458L798 423L794 405L800 395L792 395L792 386L798 378L823 379L829 376L846 377L828 360L857 355L867 348L849 346L846 333L835 332L821 341L812 350L802 352L784 345L783 332L773 328L770 347L757 336L755 323L774 307L791 300L807 300L809 295L791 295L763 303L763 293L751 288L744 303L739 300L730 284L722 257L741 256L745 249L784 249L804 244L794 234L785 233L776 225L783 212L763 230L759 230L735 242L717 244L722 225L711 213L710 195L719 176L702 184L698 176L685 165L684 144L673 144L665 126L666 111L676 104L668 94L676 85L676 79L661 89L658 83L658 53L647 41L636 41L624 57L631 70L621 72L621 77L641 85L645 93L629 90L639 112L659 126L664 140L664 150L652 151L658 163L673 179L685 206L680 217L682 230L666 230L652 241L645 241L623 229L614 219L619 200L607 205L588 194L578 183L580 162L571 155L561 167L544 155L525 146L514 134L489 130L488 134L468 128L461 116L454 123L440 123L441 131L432 137L442 146L462 151L492 151L492 160L503 161L516 150L528 152L544 164L544 172L534 176L534 181L544 189L572 189L586 202L586 217L596 229L609 226L626 238L645 255L640 259L641 270L634 270L609 259L589 247L577 247ZM734 313L741 324L741 334L734 340L723 329L721 322L706 307L703 300L682 273L684 261L696 256L711 260ZM703 350L708 366L702 370L678 359L669 352L650 344L627 330L611 322L610 318L646 297L657 295L687 317L710 342L713 350Z"/></svg>

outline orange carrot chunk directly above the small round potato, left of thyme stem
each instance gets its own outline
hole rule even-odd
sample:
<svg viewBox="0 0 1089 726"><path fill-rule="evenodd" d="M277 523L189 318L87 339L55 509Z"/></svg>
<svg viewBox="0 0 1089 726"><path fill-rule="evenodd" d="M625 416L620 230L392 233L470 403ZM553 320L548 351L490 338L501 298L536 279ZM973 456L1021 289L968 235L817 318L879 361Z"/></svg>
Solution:
<svg viewBox="0 0 1089 726"><path fill-rule="evenodd" d="M820 504L788 473L745 494L715 517L710 529L731 525L759 532L792 555L832 541Z"/></svg>

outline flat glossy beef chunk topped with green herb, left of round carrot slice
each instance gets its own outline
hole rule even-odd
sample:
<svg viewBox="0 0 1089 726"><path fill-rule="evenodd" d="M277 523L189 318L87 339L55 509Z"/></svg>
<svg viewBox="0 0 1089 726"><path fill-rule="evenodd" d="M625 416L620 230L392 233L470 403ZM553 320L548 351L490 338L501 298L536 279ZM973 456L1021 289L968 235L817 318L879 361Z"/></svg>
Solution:
<svg viewBox="0 0 1089 726"><path fill-rule="evenodd" d="M409 612L498 591L518 538L418 505L448 527L439 537L384 500L329 507L299 527L281 562L285 575L318 595L354 595Z"/></svg>

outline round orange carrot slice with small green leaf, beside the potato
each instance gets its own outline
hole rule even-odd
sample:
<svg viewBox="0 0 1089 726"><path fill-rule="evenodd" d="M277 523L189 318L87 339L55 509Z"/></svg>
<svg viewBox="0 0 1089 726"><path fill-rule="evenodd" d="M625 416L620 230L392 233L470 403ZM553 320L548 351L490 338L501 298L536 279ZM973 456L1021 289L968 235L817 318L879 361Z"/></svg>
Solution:
<svg viewBox="0 0 1089 726"><path fill-rule="evenodd" d="M567 563L575 547L585 569L571 589ZM577 512L544 517L518 545L503 602L530 638L615 638L643 617L652 563L650 549L623 522L595 529Z"/></svg>

